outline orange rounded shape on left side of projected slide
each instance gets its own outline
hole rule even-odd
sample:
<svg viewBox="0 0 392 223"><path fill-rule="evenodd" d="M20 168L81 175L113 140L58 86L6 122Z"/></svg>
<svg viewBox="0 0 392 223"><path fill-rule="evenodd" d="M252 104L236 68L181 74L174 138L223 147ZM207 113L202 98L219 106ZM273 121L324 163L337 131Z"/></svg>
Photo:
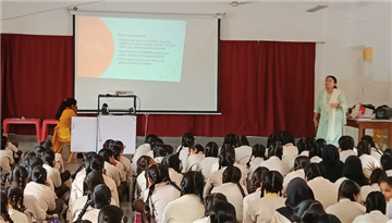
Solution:
<svg viewBox="0 0 392 223"><path fill-rule="evenodd" d="M77 76L98 77L113 59L113 37L99 17L78 17L77 25Z"/></svg>

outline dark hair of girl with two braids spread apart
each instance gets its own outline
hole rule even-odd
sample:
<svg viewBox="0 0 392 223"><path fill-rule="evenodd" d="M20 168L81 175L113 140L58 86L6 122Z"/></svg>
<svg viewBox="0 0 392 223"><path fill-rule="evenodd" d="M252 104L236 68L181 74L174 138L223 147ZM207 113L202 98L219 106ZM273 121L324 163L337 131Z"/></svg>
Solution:
<svg viewBox="0 0 392 223"><path fill-rule="evenodd" d="M149 199L154 194L156 185L159 183L162 183L162 182L167 182L168 184L173 186L179 191L181 191L181 188L174 182L172 182L170 179L168 168L161 163L157 163L157 164L152 164L152 165L148 166L146 170L146 175L152 181L152 184L149 186L147 200L145 202L146 216L147 216L147 220L149 221L150 218L154 218L154 212L155 212L155 210L150 210ZM152 206L152 209L154 209L154 206ZM152 213L152 215L151 215L151 213Z"/></svg>

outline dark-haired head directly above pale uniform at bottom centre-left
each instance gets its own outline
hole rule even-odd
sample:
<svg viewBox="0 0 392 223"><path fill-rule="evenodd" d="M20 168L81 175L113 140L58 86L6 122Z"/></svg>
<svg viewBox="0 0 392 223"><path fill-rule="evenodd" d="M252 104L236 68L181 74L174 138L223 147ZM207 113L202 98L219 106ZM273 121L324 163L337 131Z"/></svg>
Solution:
<svg viewBox="0 0 392 223"><path fill-rule="evenodd" d="M185 173L181 182L181 196L183 195L196 195L203 202L203 189L205 186L204 176L196 171L189 171Z"/></svg>

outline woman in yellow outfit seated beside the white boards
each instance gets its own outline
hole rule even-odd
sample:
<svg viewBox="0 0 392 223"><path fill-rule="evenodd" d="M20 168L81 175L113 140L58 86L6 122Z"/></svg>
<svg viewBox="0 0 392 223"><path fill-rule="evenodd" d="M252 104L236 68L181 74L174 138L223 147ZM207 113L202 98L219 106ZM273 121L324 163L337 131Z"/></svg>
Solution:
<svg viewBox="0 0 392 223"><path fill-rule="evenodd" d="M54 152L61 150L63 144L71 144L71 119L76 116L77 106L74 98L63 100L56 114L58 125L54 128L52 149Z"/></svg>

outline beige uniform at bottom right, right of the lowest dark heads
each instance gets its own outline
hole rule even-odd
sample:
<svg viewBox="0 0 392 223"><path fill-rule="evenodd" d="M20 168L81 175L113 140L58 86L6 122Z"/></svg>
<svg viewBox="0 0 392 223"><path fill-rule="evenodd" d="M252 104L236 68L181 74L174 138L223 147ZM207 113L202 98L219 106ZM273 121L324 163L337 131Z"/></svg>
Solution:
<svg viewBox="0 0 392 223"><path fill-rule="evenodd" d="M338 203L328 207L326 212L338 216L342 223L352 223L355 218L366 213L366 208L358 202L343 198Z"/></svg>

